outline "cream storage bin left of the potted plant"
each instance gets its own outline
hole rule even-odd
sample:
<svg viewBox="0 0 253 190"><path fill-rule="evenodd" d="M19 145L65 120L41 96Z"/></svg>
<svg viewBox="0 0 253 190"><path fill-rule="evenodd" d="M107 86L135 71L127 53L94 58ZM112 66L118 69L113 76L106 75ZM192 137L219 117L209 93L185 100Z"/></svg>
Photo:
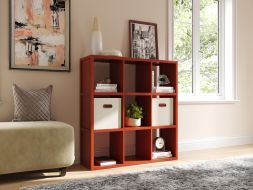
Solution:
<svg viewBox="0 0 253 190"><path fill-rule="evenodd" d="M94 98L94 129L121 128L121 98Z"/></svg>

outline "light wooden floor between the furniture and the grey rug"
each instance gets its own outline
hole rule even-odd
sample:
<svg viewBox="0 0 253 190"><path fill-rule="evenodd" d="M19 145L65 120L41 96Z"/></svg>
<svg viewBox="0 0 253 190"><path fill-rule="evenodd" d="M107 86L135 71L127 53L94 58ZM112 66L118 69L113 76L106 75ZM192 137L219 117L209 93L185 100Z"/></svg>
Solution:
<svg viewBox="0 0 253 190"><path fill-rule="evenodd" d="M63 180L91 178L110 174L123 174L127 172L144 171L147 169L169 165L177 165L181 163L192 163L203 160L223 159L227 157L244 156L244 155L253 155L253 145L183 152L179 154L178 161L152 163L152 164L114 168L100 171L87 171L84 167L76 165L69 169L65 177L56 177L57 173L48 173L48 174L26 173L26 174L1 176L0 190L17 190L20 187L24 186L56 183Z"/></svg>

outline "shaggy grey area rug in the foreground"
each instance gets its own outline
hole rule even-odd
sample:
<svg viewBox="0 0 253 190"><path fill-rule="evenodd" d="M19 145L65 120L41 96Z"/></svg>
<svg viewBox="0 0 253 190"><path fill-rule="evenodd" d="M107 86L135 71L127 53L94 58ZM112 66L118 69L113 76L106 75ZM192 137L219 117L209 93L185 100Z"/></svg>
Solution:
<svg viewBox="0 0 253 190"><path fill-rule="evenodd" d="M147 166L148 167L148 166ZM181 164L155 170L65 181L23 190L238 190L253 189L253 156Z"/></svg>

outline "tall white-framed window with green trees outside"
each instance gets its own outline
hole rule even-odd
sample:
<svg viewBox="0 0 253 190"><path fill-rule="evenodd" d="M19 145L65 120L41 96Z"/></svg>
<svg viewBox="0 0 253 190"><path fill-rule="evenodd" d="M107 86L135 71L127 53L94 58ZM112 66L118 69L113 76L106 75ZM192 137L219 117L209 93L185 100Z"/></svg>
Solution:
<svg viewBox="0 0 253 190"><path fill-rule="evenodd" d="M235 98L234 0L169 0L180 99Z"/></svg>

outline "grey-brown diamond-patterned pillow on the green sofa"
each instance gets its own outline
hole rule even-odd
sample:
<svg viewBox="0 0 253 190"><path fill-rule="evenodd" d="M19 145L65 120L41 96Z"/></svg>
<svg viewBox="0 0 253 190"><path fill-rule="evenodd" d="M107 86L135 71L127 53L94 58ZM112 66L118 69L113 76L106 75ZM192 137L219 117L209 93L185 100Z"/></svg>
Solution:
<svg viewBox="0 0 253 190"><path fill-rule="evenodd" d="M26 91L13 84L14 120L49 121L51 119L51 95L53 86Z"/></svg>

